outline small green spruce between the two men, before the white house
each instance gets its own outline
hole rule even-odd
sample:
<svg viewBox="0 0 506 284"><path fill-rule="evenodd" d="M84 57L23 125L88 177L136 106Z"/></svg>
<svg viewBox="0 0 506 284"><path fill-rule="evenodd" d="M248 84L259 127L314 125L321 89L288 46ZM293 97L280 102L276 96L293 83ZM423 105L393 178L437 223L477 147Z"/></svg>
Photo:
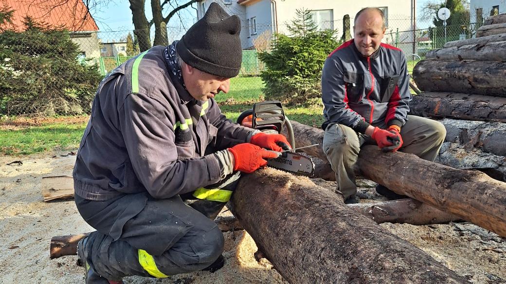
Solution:
<svg viewBox="0 0 506 284"><path fill-rule="evenodd" d="M297 10L290 35L276 34L270 52L260 52L266 65L261 77L268 100L301 102L321 96L321 71L337 46L335 30L318 30L310 11Z"/></svg>

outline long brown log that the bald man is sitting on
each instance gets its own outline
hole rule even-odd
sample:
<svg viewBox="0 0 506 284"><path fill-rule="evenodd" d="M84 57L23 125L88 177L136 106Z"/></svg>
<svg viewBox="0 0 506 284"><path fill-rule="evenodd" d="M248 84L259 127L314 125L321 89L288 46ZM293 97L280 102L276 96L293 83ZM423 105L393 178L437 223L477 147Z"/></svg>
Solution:
<svg viewBox="0 0 506 284"><path fill-rule="evenodd" d="M322 145L323 130L294 121L292 128L298 138L298 147ZM325 158L321 147L304 151ZM360 150L357 173L397 194L427 203L506 237L506 182L477 170L455 169L413 154L382 153L372 145Z"/></svg>

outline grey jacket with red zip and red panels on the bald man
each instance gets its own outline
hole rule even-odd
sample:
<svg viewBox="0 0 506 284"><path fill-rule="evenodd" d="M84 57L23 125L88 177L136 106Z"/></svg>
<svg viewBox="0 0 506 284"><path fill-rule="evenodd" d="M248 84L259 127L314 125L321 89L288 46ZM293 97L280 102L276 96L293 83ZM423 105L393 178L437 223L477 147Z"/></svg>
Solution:
<svg viewBox="0 0 506 284"><path fill-rule="evenodd" d="M325 129L340 123L365 133L369 125L402 126L411 94L406 58L400 49L382 43L371 56L357 50L353 39L326 59L321 78Z"/></svg>

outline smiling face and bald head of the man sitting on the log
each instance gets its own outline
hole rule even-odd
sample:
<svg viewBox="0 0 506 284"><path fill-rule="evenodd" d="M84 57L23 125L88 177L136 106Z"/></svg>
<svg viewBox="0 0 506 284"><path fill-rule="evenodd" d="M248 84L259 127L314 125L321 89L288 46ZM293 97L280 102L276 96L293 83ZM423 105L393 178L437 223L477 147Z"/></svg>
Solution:
<svg viewBox="0 0 506 284"><path fill-rule="evenodd" d="M377 11L366 10L356 19L354 31L355 46L363 56L371 56L381 44L386 28Z"/></svg>

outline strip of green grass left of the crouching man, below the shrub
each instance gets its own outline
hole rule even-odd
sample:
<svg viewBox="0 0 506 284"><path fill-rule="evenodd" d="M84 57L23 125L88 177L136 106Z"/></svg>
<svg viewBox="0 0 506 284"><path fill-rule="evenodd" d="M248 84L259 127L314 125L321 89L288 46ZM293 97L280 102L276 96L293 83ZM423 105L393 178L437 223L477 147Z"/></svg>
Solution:
<svg viewBox="0 0 506 284"><path fill-rule="evenodd" d="M75 150L79 147L86 123L52 123L17 129L0 129L0 154L30 155L56 148Z"/></svg>

